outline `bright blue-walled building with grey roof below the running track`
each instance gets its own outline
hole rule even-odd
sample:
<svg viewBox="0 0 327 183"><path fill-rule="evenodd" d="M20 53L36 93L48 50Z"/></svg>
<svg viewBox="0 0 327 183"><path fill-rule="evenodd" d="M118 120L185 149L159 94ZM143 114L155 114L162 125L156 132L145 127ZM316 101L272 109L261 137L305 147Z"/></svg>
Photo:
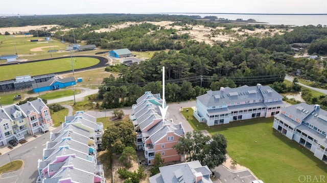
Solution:
<svg viewBox="0 0 327 183"><path fill-rule="evenodd" d="M37 93L42 91L57 90L72 85L76 85L75 77L67 77L63 79L57 79L56 77L53 77L46 82L33 83L32 88L33 92Z"/></svg>

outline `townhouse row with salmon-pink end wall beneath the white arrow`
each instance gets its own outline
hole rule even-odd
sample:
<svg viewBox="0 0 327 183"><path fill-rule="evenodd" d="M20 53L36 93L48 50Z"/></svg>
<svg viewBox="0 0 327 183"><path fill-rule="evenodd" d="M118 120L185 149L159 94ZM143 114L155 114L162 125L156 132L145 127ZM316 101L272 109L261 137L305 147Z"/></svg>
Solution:
<svg viewBox="0 0 327 183"><path fill-rule="evenodd" d="M133 104L133 113L130 114L137 133L136 148L144 151L148 165L153 164L157 153L165 162L184 161L184 156L177 154L172 148L184 136L184 128L181 123L173 123L172 119L162 119L159 110L162 102L160 94L145 92Z"/></svg>

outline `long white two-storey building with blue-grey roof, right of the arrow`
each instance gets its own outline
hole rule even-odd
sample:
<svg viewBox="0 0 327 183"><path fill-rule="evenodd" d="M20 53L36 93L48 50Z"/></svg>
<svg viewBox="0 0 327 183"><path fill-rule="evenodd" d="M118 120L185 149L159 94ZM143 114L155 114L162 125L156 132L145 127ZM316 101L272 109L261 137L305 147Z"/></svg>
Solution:
<svg viewBox="0 0 327 183"><path fill-rule="evenodd" d="M241 86L207 91L197 97L193 116L208 126L230 121L271 117L285 107L283 96L269 86Z"/></svg>

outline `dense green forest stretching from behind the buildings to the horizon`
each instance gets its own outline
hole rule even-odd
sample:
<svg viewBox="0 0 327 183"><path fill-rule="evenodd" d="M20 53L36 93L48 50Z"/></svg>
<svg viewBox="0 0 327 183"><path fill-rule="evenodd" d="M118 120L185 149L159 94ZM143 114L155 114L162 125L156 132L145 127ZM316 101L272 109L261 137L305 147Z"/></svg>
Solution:
<svg viewBox="0 0 327 183"><path fill-rule="evenodd" d="M38 24L57 24L60 27L43 31L30 30L37 36L55 32L54 36L65 42L96 44L103 49L128 48L134 51L157 51L151 59L130 67L114 65L106 68L119 72L119 77L110 76L103 80L98 97L103 99L102 108L131 106L145 91L161 93L161 68L165 66L167 81L166 99L168 102L194 99L207 90L220 87L243 85L271 85L277 92L298 91L297 86L285 86L286 73L305 80L313 85L327 88L325 71L327 55L326 25L287 25L233 24L228 20L202 20L193 16L174 15L132 15L132 14L84 14L54 16L22 16L0 19L0 27L14 27ZM178 34L174 26L170 29L145 21L172 21L171 25L204 25L209 28L223 27L212 31L211 37L219 34L237 33L242 30L281 29L278 34L249 36L243 34L238 41L215 41L213 45L193 40L187 33ZM124 22L142 22L129 25L112 32L95 32ZM61 29L75 28L66 32ZM240 28L238 31L232 28ZM292 31L288 31L292 29ZM17 33L18 34L18 33ZM64 35L63 35L64 34ZM63 35L63 36L62 36ZM305 51L316 59L302 57ZM300 55L301 57L294 57ZM304 92L308 94L308 92ZM311 98L308 103L327 104L324 96ZM325 108L323 107L322 108Z"/></svg>

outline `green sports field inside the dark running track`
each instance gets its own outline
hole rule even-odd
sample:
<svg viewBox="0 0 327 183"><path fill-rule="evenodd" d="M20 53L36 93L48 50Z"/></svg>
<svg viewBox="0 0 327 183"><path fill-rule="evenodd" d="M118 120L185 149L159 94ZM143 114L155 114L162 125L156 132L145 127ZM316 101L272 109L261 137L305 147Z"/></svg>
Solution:
<svg viewBox="0 0 327 183"><path fill-rule="evenodd" d="M98 64L100 61L88 57L75 57L73 58L74 70L90 67ZM54 59L49 61L19 63L15 65L0 66L0 81L12 80L16 76L21 75L42 75L55 72L62 72L72 70L71 58Z"/></svg>

